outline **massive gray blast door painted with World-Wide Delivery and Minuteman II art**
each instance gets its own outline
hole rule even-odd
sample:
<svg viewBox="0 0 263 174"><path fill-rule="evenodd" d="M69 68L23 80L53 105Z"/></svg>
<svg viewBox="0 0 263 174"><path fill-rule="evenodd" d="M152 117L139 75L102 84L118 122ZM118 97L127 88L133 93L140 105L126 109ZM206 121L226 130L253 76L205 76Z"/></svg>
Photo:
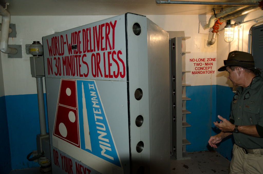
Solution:
<svg viewBox="0 0 263 174"><path fill-rule="evenodd" d="M53 173L169 173L169 36L126 13L43 37Z"/></svg>

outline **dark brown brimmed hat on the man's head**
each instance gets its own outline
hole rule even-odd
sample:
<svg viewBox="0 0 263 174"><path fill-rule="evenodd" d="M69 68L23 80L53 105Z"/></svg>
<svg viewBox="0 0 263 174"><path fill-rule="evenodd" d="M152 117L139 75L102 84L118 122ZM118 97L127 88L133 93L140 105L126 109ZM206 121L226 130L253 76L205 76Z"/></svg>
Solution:
<svg viewBox="0 0 263 174"><path fill-rule="evenodd" d="M228 54L227 60L224 60L224 65L218 69L218 71L225 71L227 66L240 66L245 69L251 69L257 73L261 73L260 70L255 68L255 62L252 54L242 51L232 51Z"/></svg>

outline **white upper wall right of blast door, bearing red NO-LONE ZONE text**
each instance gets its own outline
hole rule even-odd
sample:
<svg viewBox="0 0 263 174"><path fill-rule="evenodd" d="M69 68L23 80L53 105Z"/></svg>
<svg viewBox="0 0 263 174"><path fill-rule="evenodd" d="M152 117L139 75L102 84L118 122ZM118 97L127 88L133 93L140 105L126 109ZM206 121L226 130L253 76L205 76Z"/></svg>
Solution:
<svg viewBox="0 0 263 174"><path fill-rule="evenodd" d="M199 67L194 66L196 62L190 62L190 59L216 58L216 43L213 46L214 48L205 48L205 39L211 40L212 33L198 33L199 21L208 21L211 15L146 15L146 17L166 31L184 31L185 36L191 37L191 39L185 41L186 52L191 52L185 55L185 70L195 71L195 67ZM186 84L191 84L192 86L215 85L216 62L213 62L212 70L214 70L214 74L193 75L192 73L186 73Z"/></svg>

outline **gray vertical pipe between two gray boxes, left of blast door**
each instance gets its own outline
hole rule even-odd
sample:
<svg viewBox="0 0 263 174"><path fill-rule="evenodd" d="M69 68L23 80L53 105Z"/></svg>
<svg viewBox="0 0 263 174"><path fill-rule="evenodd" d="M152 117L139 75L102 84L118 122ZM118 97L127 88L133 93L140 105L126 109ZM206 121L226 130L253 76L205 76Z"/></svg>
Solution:
<svg viewBox="0 0 263 174"><path fill-rule="evenodd" d="M36 79L37 79L37 98L38 98L38 110L39 110L39 123L40 123L40 134L41 135L47 135L42 77L43 76L37 76L36 77Z"/></svg>

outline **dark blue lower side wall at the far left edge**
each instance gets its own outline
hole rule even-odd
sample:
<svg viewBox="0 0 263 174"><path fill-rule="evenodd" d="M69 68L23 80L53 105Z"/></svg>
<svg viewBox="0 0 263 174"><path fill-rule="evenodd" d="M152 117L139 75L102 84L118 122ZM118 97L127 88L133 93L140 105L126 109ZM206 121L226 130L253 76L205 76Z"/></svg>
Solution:
<svg viewBox="0 0 263 174"><path fill-rule="evenodd" d="M0 173L8 174L12 168L5 96L0 97L0 119Z"/></svg>

